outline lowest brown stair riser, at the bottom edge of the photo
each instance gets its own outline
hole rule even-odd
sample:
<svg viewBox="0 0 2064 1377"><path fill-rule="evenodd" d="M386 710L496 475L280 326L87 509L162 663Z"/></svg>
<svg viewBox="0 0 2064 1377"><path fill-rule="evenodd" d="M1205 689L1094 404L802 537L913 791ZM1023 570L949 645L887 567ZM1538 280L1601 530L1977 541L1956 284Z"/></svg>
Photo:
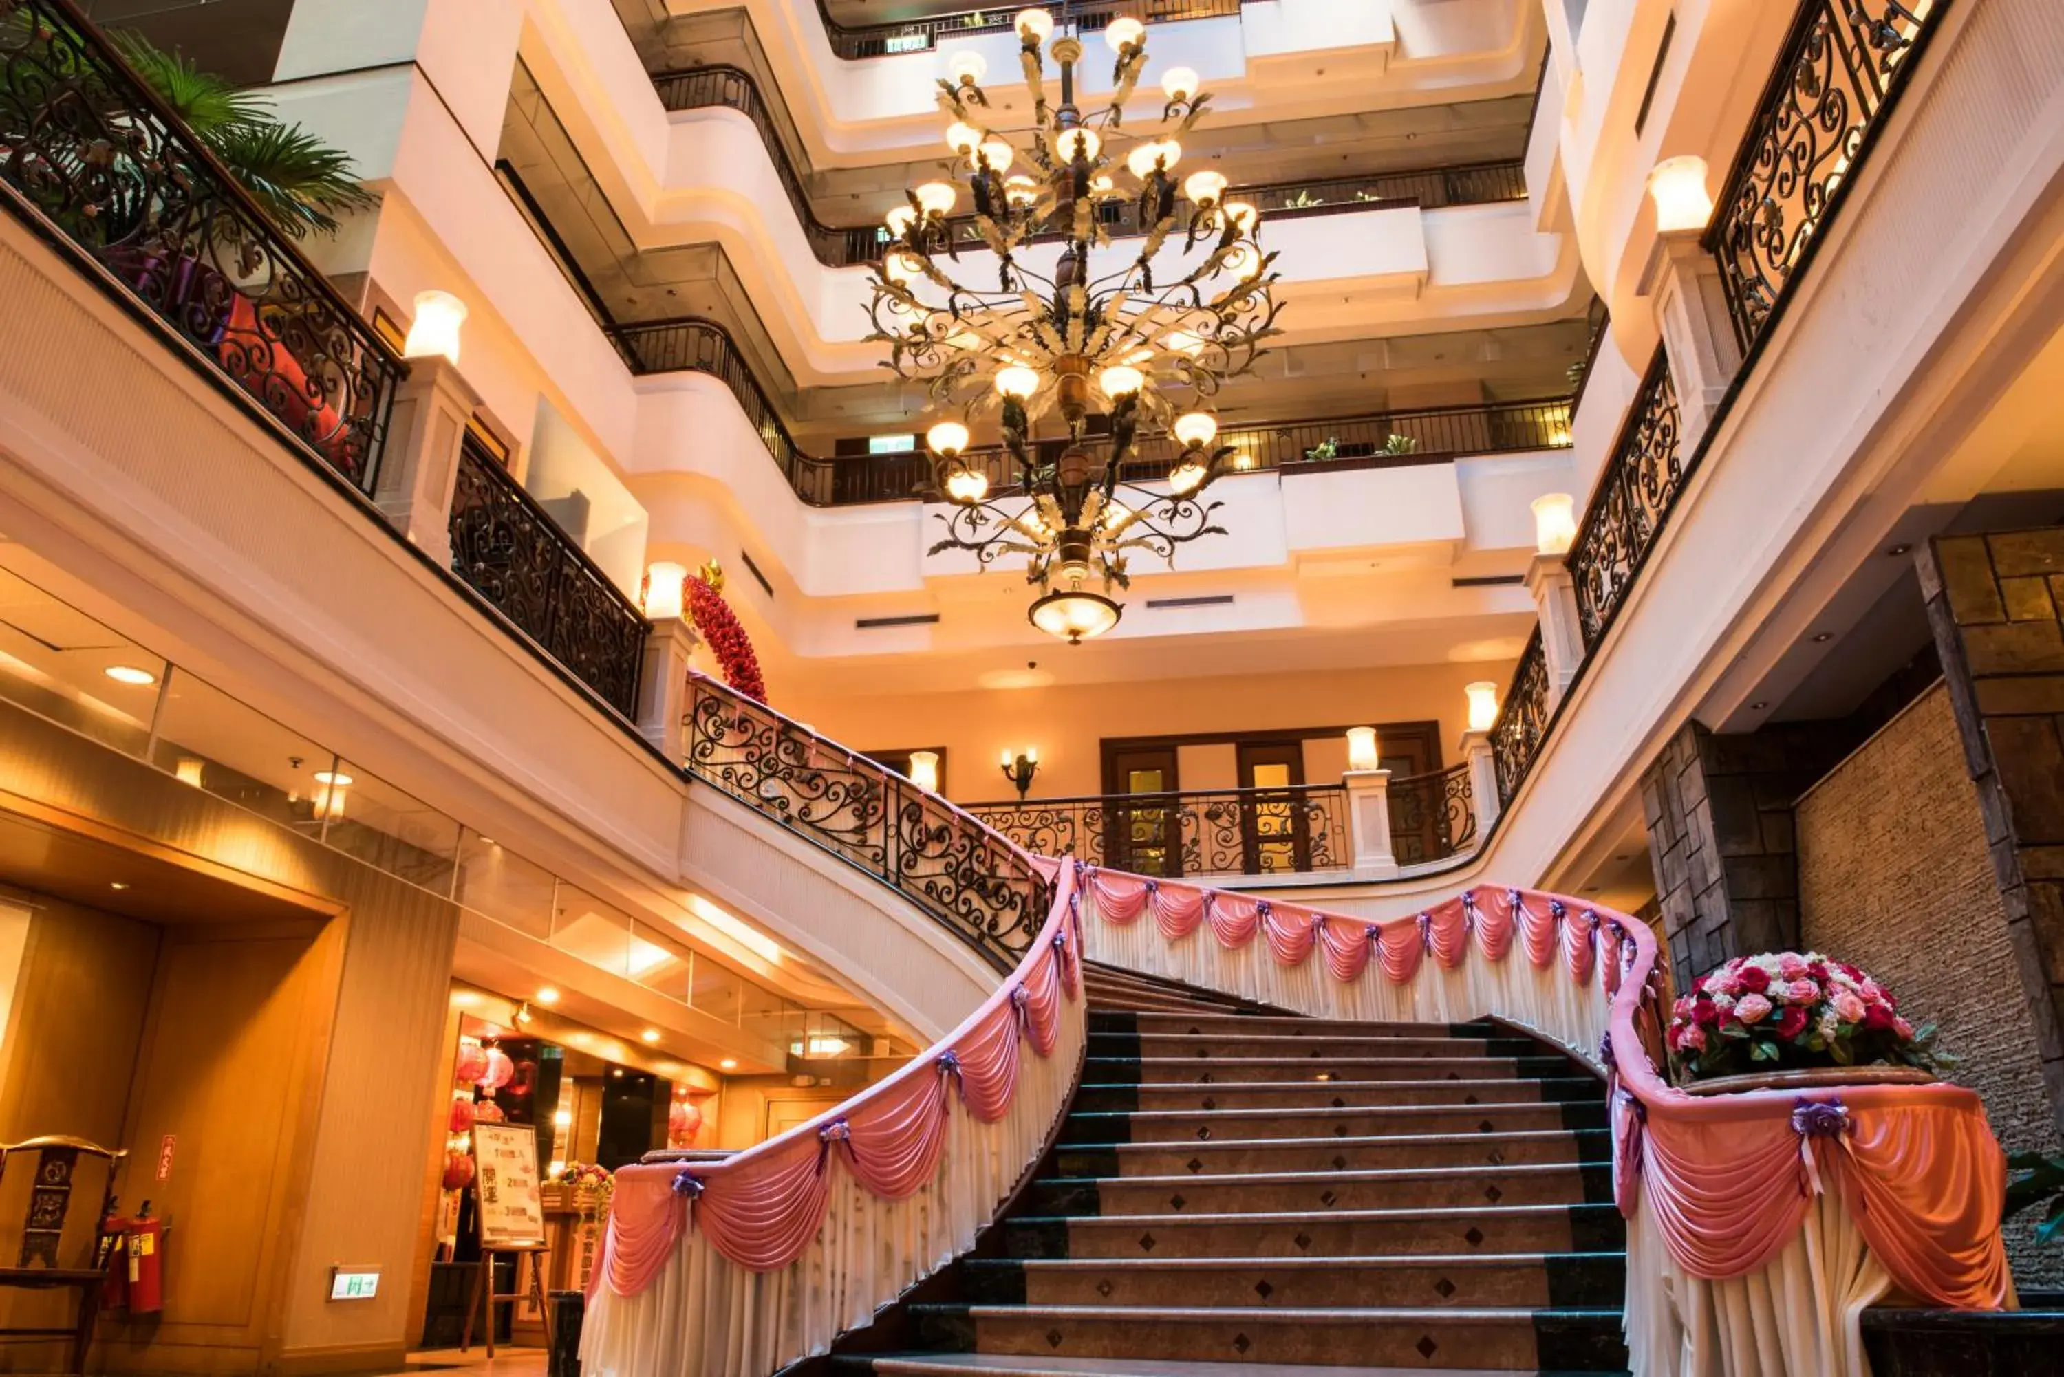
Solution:
<svg viewBox="0 0 2064 1377"><path fill-rule="evenodd" d="M1602 1332L1608 1323L1598 1325ZM960 1346L958 1330L937 1334ZM1614 1336L1602 1334L1600 1348ZM1273 1321L1255 1319L1055 1319L978 1317L972 1346L982 1354L1040 1358L1158 1358L1164 1363L1342 1363L1404 1369L1525 1369L1542 1365L1531 1319ZM1624 1358L1620 1358L1624 1365Z"/></svg>

